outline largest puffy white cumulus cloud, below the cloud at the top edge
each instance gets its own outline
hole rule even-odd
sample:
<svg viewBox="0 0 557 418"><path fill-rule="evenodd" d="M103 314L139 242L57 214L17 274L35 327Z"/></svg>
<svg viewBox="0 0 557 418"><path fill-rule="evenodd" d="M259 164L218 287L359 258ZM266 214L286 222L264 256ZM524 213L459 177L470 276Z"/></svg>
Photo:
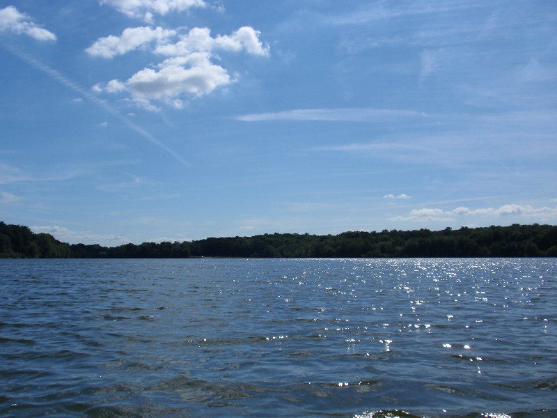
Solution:
<svg viewBox="0 0 557 418"><path fill-rule="evenodd" d="M212 62L213 51L245 51L248 54L267 56L268 45L259 40L260 32L242 27L231 35L210 35L210 29L194 28L179 37L178 42L168 42L175 31L162 28L139 27L126 29L121 36L97 40L87 49L92 56L113 58L139 47L154 44L152 52L169 56L154 68L143 68L126 81L113 79L107 84L95 84L93 91L119 93L128 91L132 101L148 110L158 110L152 101L159 101L180 109L182 95L201 97L226 86L232 80L228 71Z"/></svg>

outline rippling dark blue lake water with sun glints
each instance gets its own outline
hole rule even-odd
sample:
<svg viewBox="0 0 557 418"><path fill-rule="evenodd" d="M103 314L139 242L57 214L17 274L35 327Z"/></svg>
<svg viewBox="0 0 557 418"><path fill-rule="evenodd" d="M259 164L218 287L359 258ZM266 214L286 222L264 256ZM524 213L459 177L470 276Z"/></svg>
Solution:
<svg viewBox="0 0 557 418"><path fill-rule="evenodd" d="M557 261L0 260L0 415L557 417Z"/></svg>

